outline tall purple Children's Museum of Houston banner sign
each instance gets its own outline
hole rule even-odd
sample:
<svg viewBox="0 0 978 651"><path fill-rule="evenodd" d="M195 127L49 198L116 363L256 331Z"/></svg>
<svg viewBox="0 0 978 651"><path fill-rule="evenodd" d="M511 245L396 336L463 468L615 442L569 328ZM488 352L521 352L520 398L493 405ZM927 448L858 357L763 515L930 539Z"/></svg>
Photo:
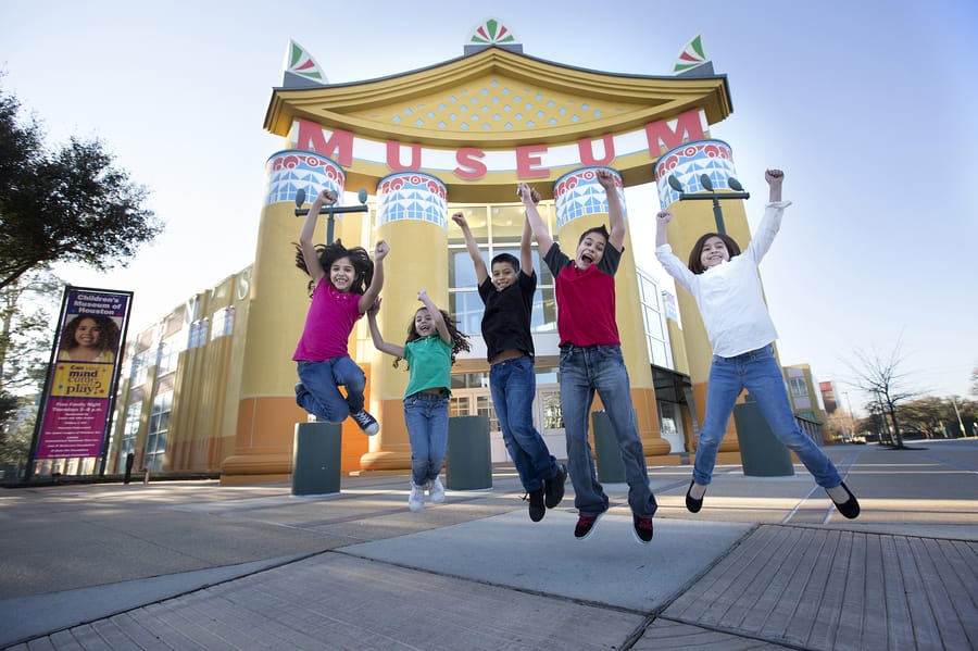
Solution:
<svg viewBox="0 0 978 651"><path fill-rule="evenodd" d="M101 456L131 302L131 291L65 289L35 459Z"/></svg>

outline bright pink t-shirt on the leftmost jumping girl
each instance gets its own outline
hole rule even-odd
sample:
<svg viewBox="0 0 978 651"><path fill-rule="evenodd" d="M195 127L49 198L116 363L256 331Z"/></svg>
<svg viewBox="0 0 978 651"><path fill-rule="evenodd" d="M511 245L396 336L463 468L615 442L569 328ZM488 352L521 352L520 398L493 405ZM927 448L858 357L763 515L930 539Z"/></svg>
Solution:
<svg viewBox="0 0 978 651"><path fill-rule="evenodd" d="M349 355L347 343L350 333L353 331L356 320L363 316L359 306L360 298L359 293L340 293L329 278L323 276L313 290L312 304L305 315L305 327L292 360L322 362Z"/></svg>

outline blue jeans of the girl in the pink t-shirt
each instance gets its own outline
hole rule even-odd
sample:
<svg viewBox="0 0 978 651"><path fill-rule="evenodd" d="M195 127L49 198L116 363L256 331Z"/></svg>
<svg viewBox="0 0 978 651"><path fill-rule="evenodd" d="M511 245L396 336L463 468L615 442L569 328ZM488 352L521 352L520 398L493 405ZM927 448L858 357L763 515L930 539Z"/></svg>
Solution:
<svg viewBox="0 0 978 651"><path fill-rule="evenodd" d="M350 414L363 410L366 375L349 356L322 362L299 362L302 388L296 392L296 404L323 421L342 423ZM339 391L342 385L347 397Z"/></svg>

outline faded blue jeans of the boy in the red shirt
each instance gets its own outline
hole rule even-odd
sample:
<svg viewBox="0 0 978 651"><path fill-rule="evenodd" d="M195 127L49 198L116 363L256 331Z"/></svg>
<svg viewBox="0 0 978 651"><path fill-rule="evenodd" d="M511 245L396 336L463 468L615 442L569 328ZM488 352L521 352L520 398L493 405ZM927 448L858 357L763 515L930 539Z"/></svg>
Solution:
<svg viewBox="0 0 978 651"><path fill-rule="evenodd" d="M588 442L588 416L594 392L601 397L625 464L628 505L635 515L652 517L657 504L645 470L645 453L635 424L631 386L620 346L561 347L561 411L567 436L567 464L574 505L581 515L607 511Z"/></svg>

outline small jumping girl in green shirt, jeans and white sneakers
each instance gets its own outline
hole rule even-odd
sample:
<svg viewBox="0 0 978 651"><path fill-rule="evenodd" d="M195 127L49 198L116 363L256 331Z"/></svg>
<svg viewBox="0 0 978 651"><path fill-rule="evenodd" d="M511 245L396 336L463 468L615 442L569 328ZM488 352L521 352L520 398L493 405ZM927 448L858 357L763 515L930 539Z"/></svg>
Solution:
<svg viewBox="0 0 978 651"><path fill-rule="evenodd" d="M439 310L427 292L417 292L422 308L408 325L404 346L389 343L377 325L378 299L367 311L371 337L377 350L394 355L394 367L408 361L408 389L404 391L404 423L411 441L411 494L408 508L425 506L425 490L434 503L444 501L444 487L438 475L448 448L448 402L451 396L452 364L455 354L469 350L468 338L459 331L451 315Z"/></svg>

